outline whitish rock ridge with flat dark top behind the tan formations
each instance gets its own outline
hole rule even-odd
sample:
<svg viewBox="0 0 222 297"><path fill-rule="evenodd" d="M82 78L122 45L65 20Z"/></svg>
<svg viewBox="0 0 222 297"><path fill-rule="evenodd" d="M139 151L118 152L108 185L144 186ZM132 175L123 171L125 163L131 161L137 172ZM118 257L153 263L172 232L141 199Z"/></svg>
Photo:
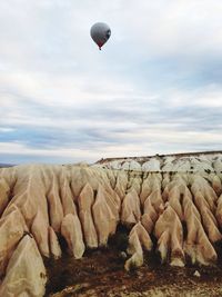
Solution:
<svg viewBox="0 0 222 297"><path fill-rule="evenodd" d="M222 151L184 152L145 157L107 158L94 166L134 172L216 172L222 174Z"/></svg>

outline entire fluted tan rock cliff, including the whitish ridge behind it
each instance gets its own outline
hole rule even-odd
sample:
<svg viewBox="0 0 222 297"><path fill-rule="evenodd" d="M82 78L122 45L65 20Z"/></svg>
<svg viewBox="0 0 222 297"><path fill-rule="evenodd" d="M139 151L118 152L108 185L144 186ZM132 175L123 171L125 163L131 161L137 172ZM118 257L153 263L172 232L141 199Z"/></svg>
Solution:
<svg viewBox="0 0 222 297"><path fill-rule="evenodd" d="M155 249L162 263L216 263L222 155L0 169L0 296L43 296L43 259L79 259L129 229L125 269ZM153 241L154 238L154 241Z"/></svg>

